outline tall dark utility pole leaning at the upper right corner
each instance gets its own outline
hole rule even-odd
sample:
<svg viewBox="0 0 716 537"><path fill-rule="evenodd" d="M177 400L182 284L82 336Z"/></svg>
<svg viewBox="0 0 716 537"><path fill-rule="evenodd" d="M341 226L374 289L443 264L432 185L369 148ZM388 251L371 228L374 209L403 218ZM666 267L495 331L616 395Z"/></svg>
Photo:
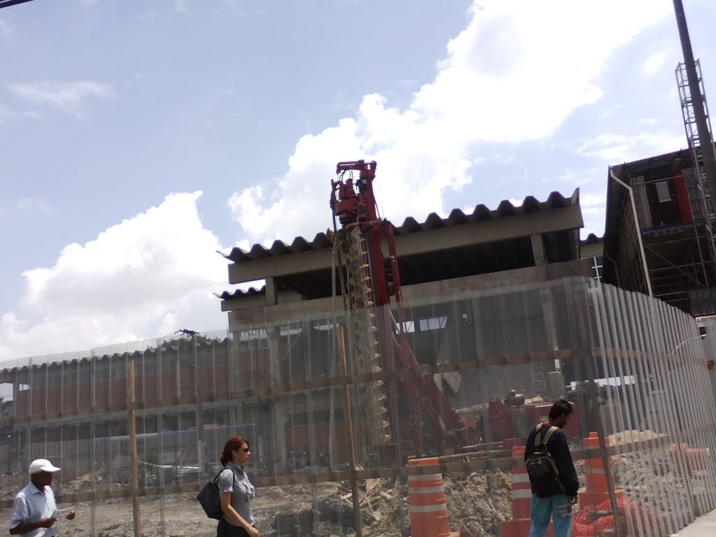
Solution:
<svg viewBox="0 0 716 537"><path fill-rule="evenodd" d="M686 67L687 77L689 77L689 92L694 108L696 130L699 135L703 169L706 174L706 182L709 185L712 203L716 203L716 153L714 152L714 144L706 120L704 100L701 95L701 88L699 87L694 51L691 48L689 27L686 24L686 14L684 13L682 0L674 0L674 12L676 13L676 22L679 28L681 49L684 53L684 66ZM697 166L698 164L694 163L694 165Z"/></svg>

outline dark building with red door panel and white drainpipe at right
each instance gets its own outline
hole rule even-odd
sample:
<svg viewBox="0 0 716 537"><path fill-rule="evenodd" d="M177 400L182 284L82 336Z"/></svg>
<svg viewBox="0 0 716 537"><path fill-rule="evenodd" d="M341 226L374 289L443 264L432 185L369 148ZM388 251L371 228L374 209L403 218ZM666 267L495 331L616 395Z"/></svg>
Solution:
<svg viewBox="0 0 716 537"><path fill-rule="evenodd" d="M716 313L714 213L692 152L637 160L611 171L632 190L609 176L604 281L647 294L648 278L655 298L695 316Z"/></svg>

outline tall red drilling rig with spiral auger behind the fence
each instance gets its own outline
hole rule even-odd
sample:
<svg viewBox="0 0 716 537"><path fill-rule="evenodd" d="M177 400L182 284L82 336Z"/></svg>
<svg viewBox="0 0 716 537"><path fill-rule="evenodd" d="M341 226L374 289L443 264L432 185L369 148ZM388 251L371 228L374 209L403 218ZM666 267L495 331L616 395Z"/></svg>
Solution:
<svg viewBox="0 0 716 537"><path fill-rule="evenodd" d="M410 347L394 228L379 216L373 190L376 168L375 161L338 163L330 200L354 368L385 380L358 384L365 453L405 458L425 455L428 443L437 451L474 444L474 433L432 372L422 374Z"/></svg>

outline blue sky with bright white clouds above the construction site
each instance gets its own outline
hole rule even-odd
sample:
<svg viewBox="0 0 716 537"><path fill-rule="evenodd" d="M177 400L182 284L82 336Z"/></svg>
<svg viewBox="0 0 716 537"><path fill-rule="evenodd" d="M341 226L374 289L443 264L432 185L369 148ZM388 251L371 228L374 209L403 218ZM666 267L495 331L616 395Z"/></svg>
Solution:
<svg viewBox="0 0 716 537"><path fill-rule="evenodd" d="M680 60L670 0L0 9L0 362L226 330L218 252L329 228L339 160L398 225L579 188L601 235L607 167L687 146Z"/></svg>

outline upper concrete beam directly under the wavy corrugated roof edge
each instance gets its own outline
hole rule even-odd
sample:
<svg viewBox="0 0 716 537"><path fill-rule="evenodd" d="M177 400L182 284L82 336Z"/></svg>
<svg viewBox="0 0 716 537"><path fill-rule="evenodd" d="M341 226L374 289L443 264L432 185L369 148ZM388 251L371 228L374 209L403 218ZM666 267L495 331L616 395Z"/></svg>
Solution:
<svg viewBox="0 0 716 537"><path fill-rule="evenodd" d="M430 229L395 238L398 256L460 248L473 244L504 241L510 238L531 236L533 233L550 233L584 226L579 205L570 205L549 211L506 216L493 220L461 224L447 228ZM387 257L387 247L383 248ZM271 276L301 274L331 268L331 248L288 253L256 261L242 261L228 266L230 284L241 284Z"/></svg>

